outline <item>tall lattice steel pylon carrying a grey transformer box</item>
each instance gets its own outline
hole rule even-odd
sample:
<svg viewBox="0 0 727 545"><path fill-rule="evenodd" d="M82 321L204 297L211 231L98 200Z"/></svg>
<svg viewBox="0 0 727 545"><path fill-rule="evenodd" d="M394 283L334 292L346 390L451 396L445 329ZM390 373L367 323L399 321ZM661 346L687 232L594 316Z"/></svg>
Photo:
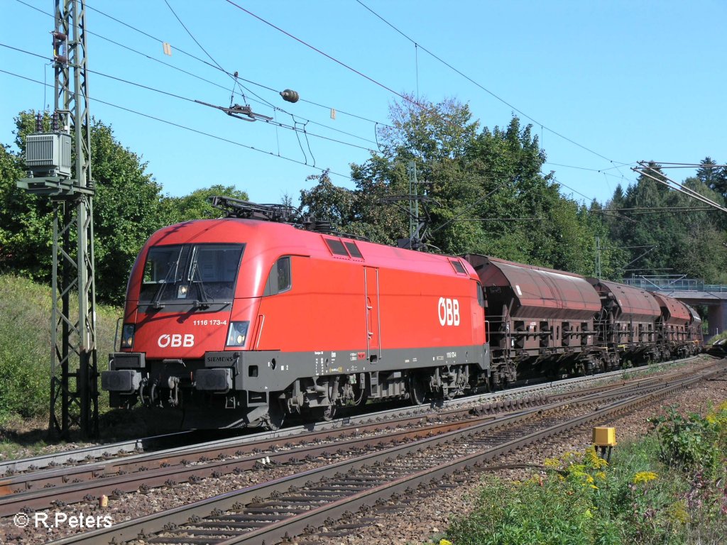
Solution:
<svg viewBox="0 0 727 545"><path fill-rule="evenodd" d="M94 189L85 8L84 0L55 0L54 117L60 117L61 127L51 134L28 135L25 158L30 177L18 182L32 193L48 195L53 203L49 431L61 437L67 437L74 425L85 435L98 432ZM72 172L62 164L65 156L68 166L71 163L70 150L64 151L64 142L66 147L70 144L69 135L75 152ZM48 142L55 147L54 153L47 152ZM71 305L74 295L77 309Z"/></svg>

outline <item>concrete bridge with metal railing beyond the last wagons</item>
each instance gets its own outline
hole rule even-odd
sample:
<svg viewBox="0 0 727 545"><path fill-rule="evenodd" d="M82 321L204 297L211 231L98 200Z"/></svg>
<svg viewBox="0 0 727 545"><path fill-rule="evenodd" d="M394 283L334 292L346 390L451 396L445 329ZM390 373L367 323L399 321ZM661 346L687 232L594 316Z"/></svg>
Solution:
<svg viewBox="0 0 727 545"><path fill-rule="evenodd" d="M624 278L624 284L646 291L659 291L694 307L707 305L709 338L727 329L727 286L705 284L704 280L686 278L683 275L632 276Z"/></svg>

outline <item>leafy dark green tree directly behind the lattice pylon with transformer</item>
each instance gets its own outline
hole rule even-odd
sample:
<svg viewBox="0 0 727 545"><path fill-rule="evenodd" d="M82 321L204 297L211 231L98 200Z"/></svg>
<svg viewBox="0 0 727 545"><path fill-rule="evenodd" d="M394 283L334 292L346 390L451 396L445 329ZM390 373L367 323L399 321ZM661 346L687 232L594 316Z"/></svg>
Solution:
<svg viewBox="0 0 727 545"><path fill-rule="evenodd" d="M44 129L49 118L44 114ZM0 201L12 221L0 226L0 267L36 280L51 275L52 203L49 198L28 195L15 187L25 149L25 136L36 130L36 114L21 112L15 119L15 143L20 153L4 148L0 175ZM94 249L97 295L121 302L126 278L134 259L154 230L164 225L161 187L146 172L146 163L113 136L111 126L94 121L91 127L91 172L95 187ZM7 246L6 246L7 241Z"/></svg>

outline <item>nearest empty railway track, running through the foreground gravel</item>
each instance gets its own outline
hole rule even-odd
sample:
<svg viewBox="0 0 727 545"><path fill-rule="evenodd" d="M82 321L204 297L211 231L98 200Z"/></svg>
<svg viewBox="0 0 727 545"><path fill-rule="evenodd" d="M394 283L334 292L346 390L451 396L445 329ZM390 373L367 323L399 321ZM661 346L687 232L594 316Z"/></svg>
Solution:
<svg viewBox="0 0 727 545"><path fill-rule="evenodd" d="M433 486L432 482L438 483L456 470L652 403L724 369L720 363L699 374L672 378L666 384L642 381L619 385L611 392L590 392L578 400L522 408L498 418L452 420L438 424L436 433L433 429L413 429L320 445L323 450L316 456L321 467L53 543L106 544L116 540L113 542L119 544L140 538L146 544L273 544L285 540L286 535L298 536L296 541L301 543L309 538L312 541L319 528L326 528L326 535L334 535L349 531L350 525L366 524L365 510L374 509L377 502L390 504L393 498L395 504L420 486ZM395 433L400 435L394 437ZM385 443L389 435L391 440ZM334 448L338 451L333 452ZM310 453L313 456L313 451ZM280 463L297 463L290 453L281 456L287 456L288 461ZM278 463L273 457L270 461ZM361 508L364 513L354 515Z"/></svg>

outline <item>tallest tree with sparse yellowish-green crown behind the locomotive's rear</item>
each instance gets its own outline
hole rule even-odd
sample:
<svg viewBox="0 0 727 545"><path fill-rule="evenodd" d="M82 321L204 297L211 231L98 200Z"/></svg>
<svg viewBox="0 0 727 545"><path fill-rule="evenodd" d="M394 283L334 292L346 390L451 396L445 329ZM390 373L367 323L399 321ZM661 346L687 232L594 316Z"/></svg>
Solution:
<svg viewBox="0 0 727 545"><path fill-rule="evenodd" d="M429 223L426 242L447 253L470 249L481 233L479 225L455 220L482 193L464 169L478 121L467 105L454 100L423 107L405 100L392 105L390 118L391 125L379 132L381 152L351 166L361 204L358 221L375 226L369 232L378 241L409 236L409 201L403 197L409 193L407 169L414 163L417 194L429 199L419 204L420 217Z"/></svg>

